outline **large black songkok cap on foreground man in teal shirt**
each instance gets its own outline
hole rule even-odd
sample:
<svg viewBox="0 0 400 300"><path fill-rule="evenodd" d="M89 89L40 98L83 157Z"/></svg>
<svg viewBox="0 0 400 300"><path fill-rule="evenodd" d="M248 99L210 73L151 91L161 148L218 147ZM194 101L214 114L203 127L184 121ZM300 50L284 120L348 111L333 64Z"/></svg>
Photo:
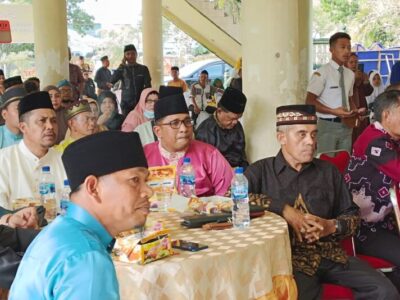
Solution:
<svg viewBox="0 0 400 300"><path fill-rule="evenodd" d="M65 149L62 161L72 192L90 175L100 177L135 167L147 168L139 134L113 130L73 142Z"/></svg>

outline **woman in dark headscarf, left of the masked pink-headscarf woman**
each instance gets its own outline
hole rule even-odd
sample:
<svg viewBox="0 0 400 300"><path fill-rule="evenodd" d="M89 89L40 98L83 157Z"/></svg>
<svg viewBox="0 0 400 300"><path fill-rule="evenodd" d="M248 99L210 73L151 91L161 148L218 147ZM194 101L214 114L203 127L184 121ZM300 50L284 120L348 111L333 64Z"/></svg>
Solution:
<svg viewBox="0 0 400 300"><path fill-rule="evenodd" d="M117 97L113 92L104 91L99 97L100 117L97 124L105 125L109 130L120 130L124 117L118 113Z"/></svg>

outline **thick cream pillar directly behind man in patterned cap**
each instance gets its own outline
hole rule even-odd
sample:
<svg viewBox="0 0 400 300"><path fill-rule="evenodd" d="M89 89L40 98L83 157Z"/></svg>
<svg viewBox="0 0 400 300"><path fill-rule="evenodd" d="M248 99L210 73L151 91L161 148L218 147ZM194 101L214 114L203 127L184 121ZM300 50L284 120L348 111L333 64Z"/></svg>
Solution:
<svg viewBox="0 0 400 300"><path fill-rule="evenodd" d="M242 1L243 90L248 99L243 119L251 162L274 156L279 149L276 107L305 100L299 95L304 79L300 74L309 59L301 34L309 26L303 19L307 14L300 13L303 2L309 0Z"/></svg>

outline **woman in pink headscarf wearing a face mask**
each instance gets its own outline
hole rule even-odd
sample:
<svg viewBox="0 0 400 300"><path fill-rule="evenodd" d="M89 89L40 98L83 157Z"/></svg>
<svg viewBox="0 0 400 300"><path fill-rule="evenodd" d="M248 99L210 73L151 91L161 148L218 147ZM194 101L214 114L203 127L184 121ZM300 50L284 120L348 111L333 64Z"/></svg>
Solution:
<svg viewBox="0 0 400 300"><path fill-rule="evenodd" d="M140 99L134 110L126 117L122 124L122 131L132 132L140 124L154 119L154 104L158 100L158 92L147 88L140 94Z"/></svg>

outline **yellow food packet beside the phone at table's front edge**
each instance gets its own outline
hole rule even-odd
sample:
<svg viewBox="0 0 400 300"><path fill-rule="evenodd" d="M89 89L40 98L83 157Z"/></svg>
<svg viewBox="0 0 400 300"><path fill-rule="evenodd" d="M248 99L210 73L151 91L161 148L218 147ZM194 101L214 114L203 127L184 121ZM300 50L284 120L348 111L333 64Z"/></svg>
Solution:
<svg viewBox="0 0 400 300"><path fill-rule="evenodd" d="M113 259L141 265L172 255L169 231L157 223L148 231L135 230L116 237Z"/></svg>

